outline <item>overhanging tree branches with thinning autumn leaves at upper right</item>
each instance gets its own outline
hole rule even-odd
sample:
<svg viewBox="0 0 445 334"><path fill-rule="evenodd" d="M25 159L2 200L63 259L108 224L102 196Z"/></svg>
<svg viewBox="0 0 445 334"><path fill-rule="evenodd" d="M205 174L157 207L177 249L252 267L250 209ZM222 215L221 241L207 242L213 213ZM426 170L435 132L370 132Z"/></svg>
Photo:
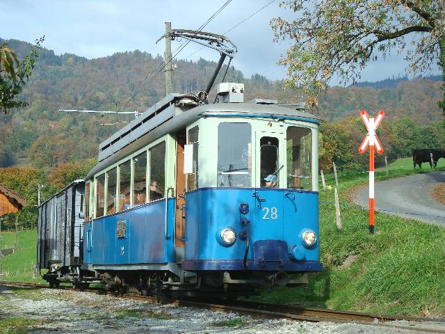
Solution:
<svg viewBox="0 0 445 334"><path fill-rule="evenodd" d="M289 0L280 6L298 15L270 22L275 40L294 41L280 64L289 66L289 86L303 88L310 104L334 74L341 84L355 81L369 61L394 52L406 51L411 72L438 61L445 81L443 0ZM445 116L445 84L442 90Z"/></svg>

